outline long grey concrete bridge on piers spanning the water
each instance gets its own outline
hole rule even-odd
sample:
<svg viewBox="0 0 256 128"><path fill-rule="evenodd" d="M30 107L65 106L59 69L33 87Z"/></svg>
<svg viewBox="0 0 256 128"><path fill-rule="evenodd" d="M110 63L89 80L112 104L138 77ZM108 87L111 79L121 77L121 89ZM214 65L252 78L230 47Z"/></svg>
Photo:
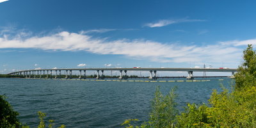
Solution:
<svg viewBox="0 0 256 128"><path fill-rule="evenodd" d="M79 79L82 79L82 71L83 71L83 78L86 78L86 70L95 70L97 71L96 79L100 78L99 72L104 73L106 70L118 70L120 71L119 79L127 79L127 71L148 71L150 73L149 79L156 79L157 71L183 71L188 72L187 79L194 79L193 72L230 72L231 77L234 77L235 72L237 72L237 68L60 68L60 69L34 69L34 70L20 70L18 72L11 72L9 75L23 75L26 78L42 77L42 75L46 78L52 78L52 71L55 71L54 78L61 78L61 72L65 72L66 79L68 77L72 79L72 71L79 71ZM122 72L124 71L124 76ZM153 76L154 72L154 76ZM58 77L59 73L59 77ZM50 75L50 77L49 77Z"/></svg>

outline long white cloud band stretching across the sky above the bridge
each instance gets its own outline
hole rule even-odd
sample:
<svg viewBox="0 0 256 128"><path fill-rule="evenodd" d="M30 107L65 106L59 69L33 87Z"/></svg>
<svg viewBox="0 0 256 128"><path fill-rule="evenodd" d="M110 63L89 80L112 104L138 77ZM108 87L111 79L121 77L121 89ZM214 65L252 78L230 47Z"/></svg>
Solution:
<svg viewBox="0 0 256 128"><path fill-rule="evenodd" d="M81 33L62 31L48 36L31 36L30 38L0 37L0 49L4 48L35 48L53 51L87 51L94 54L117 54L133 59L162 62L204 62L225 61L237 63L241 59L246 44L256 44L255 40L216 42L209 45L163 44L151 40L113 40ZM81 63L82 65L83 63ZM78 65L77 65L78 66Z"/></svg>

